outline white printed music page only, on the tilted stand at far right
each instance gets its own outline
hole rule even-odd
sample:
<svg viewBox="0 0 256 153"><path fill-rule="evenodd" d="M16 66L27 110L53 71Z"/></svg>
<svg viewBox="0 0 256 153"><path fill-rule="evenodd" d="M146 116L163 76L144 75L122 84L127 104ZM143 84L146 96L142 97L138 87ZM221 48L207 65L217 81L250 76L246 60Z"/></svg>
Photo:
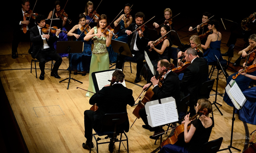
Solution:
<svg viewBox="0 0 256 153"><path fill-rule="evenodd" d="M238 102L240 106L243 106L243 102L246 100L246 98L237 83L234 83L232 88L228 92L230 92L230 94L234 97L234 99L236 100L236 102Z"/></svg>

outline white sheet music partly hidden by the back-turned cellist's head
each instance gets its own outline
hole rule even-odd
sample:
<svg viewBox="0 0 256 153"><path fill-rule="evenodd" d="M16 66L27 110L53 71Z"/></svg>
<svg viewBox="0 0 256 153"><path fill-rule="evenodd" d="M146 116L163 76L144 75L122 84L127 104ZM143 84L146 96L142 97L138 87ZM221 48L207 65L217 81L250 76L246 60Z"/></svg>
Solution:
<svg viewBox="0 0 256 153"><path fill-rule="evenodd" d="M105 71L100 73L95 73L95 77L97 80L98 88L101 90L106 84L110 84L108 80L112 80L112 74L114 73L115 69L113 71ZM122 71L122 70L120 70ZM126 87L125 82L122 82L123 86Z"/></svg>

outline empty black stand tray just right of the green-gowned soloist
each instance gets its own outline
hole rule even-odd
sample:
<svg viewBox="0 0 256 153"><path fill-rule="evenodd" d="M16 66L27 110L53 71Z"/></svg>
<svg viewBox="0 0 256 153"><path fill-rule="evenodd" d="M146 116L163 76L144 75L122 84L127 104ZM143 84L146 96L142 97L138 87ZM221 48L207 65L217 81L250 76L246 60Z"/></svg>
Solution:
<svg viewBox="0 0 256 153"><path fill-rule="evenodd" d="M114 52L133 57L128 43L112 39L111 46Z"/></svg>

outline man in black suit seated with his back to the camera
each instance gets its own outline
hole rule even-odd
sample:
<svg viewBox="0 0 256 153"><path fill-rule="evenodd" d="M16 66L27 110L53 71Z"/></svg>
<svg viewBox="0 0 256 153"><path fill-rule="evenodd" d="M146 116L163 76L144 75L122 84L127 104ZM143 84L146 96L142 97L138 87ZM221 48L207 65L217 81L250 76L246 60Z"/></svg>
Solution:
<svg viewBox="0 0 256 153"><path fill-rule="evenodd" d="M91 105L97 104L98 110L96 112L92 110L84 111L84 137L86 137L86 143L83 143L82 145L84 149L90 149L92 128L98 131L113 130L112 126L108 127L101 124L101 118L104 114L127 112L127 104L130 106L134 105L132 90L122 85L122 82L124 81L124 73L120 70L116 70L112 74L112 77L114 76L116 77L116 82L112 86L109 84L105 85L90 98L89 103ZM129 131L128 116L126 122L121 125L121 128L126 132ZM113 147L113 144L110 143L110 152L113 152Z"/></svg>

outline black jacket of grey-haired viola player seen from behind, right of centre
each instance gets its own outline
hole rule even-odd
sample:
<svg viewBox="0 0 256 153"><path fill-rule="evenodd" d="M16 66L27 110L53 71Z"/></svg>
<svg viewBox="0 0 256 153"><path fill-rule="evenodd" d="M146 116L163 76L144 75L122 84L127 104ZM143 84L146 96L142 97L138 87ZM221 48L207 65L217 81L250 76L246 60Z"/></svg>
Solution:
<svg viewBox="0 0 256 153"><path fill-rule="evenodd" d="M180 81L180 88L184 95L190 94L190 102L197 102L202 83L208 80L208 66L203 57L196 57L184 71Z"/></svg>

